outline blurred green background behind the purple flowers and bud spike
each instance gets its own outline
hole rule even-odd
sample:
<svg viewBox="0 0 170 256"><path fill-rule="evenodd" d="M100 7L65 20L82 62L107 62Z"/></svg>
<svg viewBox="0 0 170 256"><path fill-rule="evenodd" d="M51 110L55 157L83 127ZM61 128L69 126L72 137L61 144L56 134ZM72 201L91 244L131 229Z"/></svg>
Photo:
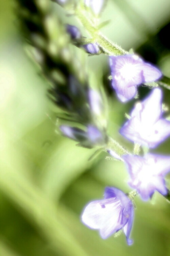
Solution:
<svg viewBox="0 0 170 256"><path fill-rule="evenodd" d="M102 198L105 186L131 191L128 174L123 163L106 160L106 153L88 161L94 150L58 134L48 84L27 55L15 8L15 1L0 0L0 256L169 256L170 204L158 193L149 202L135 198L132 246L123 233L102 240L81 223L84 206ZM74 17L54 8L85 34ZM170 76L169 0L109 0L102 16L108 19L102 32L109 39L134 48ZM109 134L132 149L118 129L134 102L115 98L106 56L83 56L109 95ZM140 96L148 91L141 87ZM164 94L170 105L169 91ZM169 143L152 152L170 154ZM170 176L166 182L170 188Z"/></svg>

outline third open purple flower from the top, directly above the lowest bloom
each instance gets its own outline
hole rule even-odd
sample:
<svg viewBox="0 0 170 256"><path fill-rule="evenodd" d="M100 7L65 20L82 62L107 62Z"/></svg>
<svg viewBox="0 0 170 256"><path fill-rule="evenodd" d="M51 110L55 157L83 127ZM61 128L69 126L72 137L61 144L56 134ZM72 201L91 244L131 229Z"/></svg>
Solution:
<svg viewBox="0 0 170 256"><path fill-rule="evenodd" d="M164 176L170 171L170 156L148 154L122 156L130 174L129 185L135 188L143 200L148 200L155 190L166 195Z"/></svg>

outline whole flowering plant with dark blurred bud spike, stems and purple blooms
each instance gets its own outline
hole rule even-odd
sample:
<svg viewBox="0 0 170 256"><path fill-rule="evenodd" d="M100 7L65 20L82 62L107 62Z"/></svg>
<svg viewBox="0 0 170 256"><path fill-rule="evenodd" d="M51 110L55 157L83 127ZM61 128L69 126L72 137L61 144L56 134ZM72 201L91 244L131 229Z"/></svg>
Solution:
<svg viewBox="0 0 170 256"><path fill-rule="evenodd" d="M69 5L72 2L71 0L54 1L61 6ZM74 3L73 6L79 7L80 12L83 9L83 15L80 13L79 19L81 21L81 18L83 18L82 24L89 27L88 32L91 34L92 41L86 40L79 28L70 24L65 25L65 31L64 29L59 30L57 38L59 38L59 41L63 41L64 37L62 35L60 38L60 33L62 34L64 31L67 39L70 37L72 44L84 49L89 54L113 53L116 47L114 52L116 56L109 56L109 64L112 87L121 102L133 99L137 94L138 86L143 83L157 81L162 77L162 73L154 65L145 62L136 54L124 54L123 49L107 41L105 37L98 33L98 28L102 24L97 24L97 20L106 0L84 0L73 1L72 3ZM38 6L40 6L40 3ZM37 10L37 8L34 9ZM34 17L29 22L27 19L30 19L31 15L28 15L28 17L26 15L24 22L26 26L28 24L32 25L29 25L28 29L33 27L34 34L39 35L41 31L41 37L50 45L51 38L49 34L51 34L51 30L48 31L48 26L44 27L45 22L41 20L43 15L47 15L45 13L42 9L37 13L36 19ZM47 16L45 16L45 20L47 20ZM86 20L86 16L90 20ZM24 15L22 15L23 17ZM34 24L35 21L36 24ZM58 23L59 27L60 22ZM44 33L46 30L47 33ZM96 42L97 38L99 42ZM30 40L33 40L32 31L30 31ZM53 44L52 40L51 45ZM82 82L76 72L73 72L73 69L70 68L74 61L69 62L69 58L66 58L66 55L63 54L63 52L69 52L69 47L66 48L61 43L54 44L55 47L61 46L57 48L57 51L50 52L49 49L46 51L45 47L42 50L39 42L33 42L33 45L36 48L39 47L43 59L43 72L53 86L49 90L50 98L57 108L63 111L57 117L67 122L60 126L62 135L86 148L102 147L111 156L124 162L130 176L129 185L135 189L134 193L131 192L127 195L118 188L106 187L104 199L92 201L85 207L82 213L82 222L92 229L98 229L103 239L123 229L127 243L131 245L133 241L130 239L130 232L134 216L131 199L137 193L142 200L149 200L155 191L164 196L168 193L165 175L170 171L170 156L152 153L143 155L127 154L127 151L117 142L114 146L121 147L124 153L118 154L116 150L114 151L114 147L109 147L109 141L114 140L109 140L107 136L107 120L103 120L104 104L101 91L99 89L94 90L89 86L87 76ZM107 46L108 49L106 49ZM113 49L111 49L112 46ZM77 70L78 72L79 70ZM155 148L164 142L170 136L170 121L164 117L162 98L163 92L159 87L152 89L149 96L135 104L130 113L130 118L121 127L120 134L138 145L148 147L148 149ZM73 123L74 126L72 126Z"/></svg>

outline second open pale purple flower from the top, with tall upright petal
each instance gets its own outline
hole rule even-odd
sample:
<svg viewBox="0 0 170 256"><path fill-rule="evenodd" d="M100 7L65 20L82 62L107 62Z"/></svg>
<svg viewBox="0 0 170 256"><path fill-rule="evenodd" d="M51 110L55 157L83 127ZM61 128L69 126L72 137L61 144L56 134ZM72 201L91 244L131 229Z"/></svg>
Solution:
<svg viewBox="0 0 170 256"><path fill-rule="evenodd" d="M135 143L154 148L170 135L170 121L162 115L162 90L155 88L135 105L131 119L119 132Z"/></svg>

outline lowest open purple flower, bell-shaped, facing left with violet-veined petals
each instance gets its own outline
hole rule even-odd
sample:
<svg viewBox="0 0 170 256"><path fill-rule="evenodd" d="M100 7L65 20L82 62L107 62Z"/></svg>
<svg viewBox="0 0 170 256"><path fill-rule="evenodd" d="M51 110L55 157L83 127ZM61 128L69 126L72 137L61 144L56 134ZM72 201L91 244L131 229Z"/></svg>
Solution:
<svg viewBox="0 0 170 256"><path fill-rule="evenodd" d="M106 187L104 199L92 201L84 209L82 222L92 229L99 229L103 239L118 230L124 230L128 245L133 243L129 238L133 222L133 204L119 189Z"/></svg>

